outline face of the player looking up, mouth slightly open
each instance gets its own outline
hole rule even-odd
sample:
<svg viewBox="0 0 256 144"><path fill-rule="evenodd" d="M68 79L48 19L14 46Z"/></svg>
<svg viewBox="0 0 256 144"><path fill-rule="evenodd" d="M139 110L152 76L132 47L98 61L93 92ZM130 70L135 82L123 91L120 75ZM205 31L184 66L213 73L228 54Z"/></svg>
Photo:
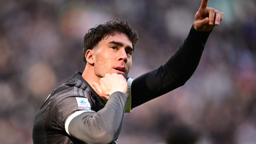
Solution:
<svg viewBox="0 0 256 144"><path fill-rule="evenodd" d="M116 33L103 38L93 49L95 51L94 70L98 77L106 73L128 76L133 54L132 43L124 33Z"/></svg>

